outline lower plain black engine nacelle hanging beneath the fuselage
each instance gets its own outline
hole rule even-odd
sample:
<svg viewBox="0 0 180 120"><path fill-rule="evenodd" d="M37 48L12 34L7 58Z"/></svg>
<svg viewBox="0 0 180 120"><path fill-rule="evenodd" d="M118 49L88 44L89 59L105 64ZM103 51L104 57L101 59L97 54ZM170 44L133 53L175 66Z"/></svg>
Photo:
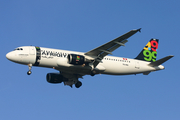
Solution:
<svg viewBox="0 0 180 120"><path fill-rule="evenodd" d="M49 83L61 83L63 81L64 77L58 73L48 73L46 75L46 80Z"/></svg>

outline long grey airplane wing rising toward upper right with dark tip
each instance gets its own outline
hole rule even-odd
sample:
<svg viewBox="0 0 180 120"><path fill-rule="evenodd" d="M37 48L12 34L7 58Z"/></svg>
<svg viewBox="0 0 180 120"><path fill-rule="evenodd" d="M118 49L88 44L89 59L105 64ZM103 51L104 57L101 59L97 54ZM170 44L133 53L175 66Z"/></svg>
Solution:
<svg viewBox="0 0 180 120"><path fill-rule="evenodd" d="M138 31L140 32L140 29L137 30L131 30L127 33L125 33L124 35L104 44L101 45L89 52L86 52L85 55L88 56L93 56L95 57L95 60L93 62L94 67L96 67L99 62L108 54L112 54L111 52L113 52L114 50L116 50L118 47L120 46L125 46L124 44L126 42L128 42L126 39L128 39L129 37L131 37L132 35L134 35L135 33L137 33Z"/></svg>

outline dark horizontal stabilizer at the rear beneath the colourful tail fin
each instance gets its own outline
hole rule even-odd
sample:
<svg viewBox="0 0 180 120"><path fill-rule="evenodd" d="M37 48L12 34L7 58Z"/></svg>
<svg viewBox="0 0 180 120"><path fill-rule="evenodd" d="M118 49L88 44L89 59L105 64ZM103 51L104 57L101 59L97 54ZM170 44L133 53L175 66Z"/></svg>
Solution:
<svg viewBox="0 0 180 120"><path fill-rule="evenodd" d="M152 67L154 67L154 66L159 66L159 65L163 64L164 62L166 62L167 60L169 60L169 59L172 58L172 57L174 57L174 55L169 55L169 56L164 57L164 58L162 58L162 59L159 59L159 60L157 60L157 61L155 61L155 62L151 62L151 63L149 64L149 66L152 66Z"/></svg>

